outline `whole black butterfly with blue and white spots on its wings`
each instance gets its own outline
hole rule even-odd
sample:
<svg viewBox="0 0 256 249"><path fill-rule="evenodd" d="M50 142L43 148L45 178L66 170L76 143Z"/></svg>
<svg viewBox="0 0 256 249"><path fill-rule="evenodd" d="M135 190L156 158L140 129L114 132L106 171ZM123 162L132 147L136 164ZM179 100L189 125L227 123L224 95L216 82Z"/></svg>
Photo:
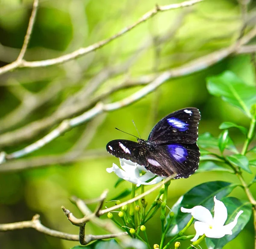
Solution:
<svg viewBox="0 0 256 249"><path fill-rule="evenodd" d="M200 151L199 110L188 107L161 119L151 130L148 140L112 140L106 146L113 156L131 160L162 177L188 178L198 169Z"/></svg>

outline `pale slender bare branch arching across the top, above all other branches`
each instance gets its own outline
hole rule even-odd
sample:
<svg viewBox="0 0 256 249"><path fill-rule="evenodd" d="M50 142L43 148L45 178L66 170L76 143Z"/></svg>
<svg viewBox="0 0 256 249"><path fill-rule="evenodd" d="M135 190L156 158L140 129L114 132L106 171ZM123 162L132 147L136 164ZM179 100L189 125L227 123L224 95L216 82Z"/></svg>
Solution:
<svg viewBox="0 0 256 249"><path fill-rule="evenodd" d="M187 6L192 6L195 3L199 3L201 1L203 1L203 0L188 0L188 1L185 1L183 3L175 3L175 4L166 5L166 6L156 6L151 11L145 13L139 20L137 20L137 22L131 24L128 27L125 27L124 29L122 29L121 31L119 31L115 35L111 36L110 38L107 38L105 40L94 43L94 44L92 44L88 47L80 48L80 49L78 49L78 50L76 50L76 51L74 51L70 54L62 55L62 56L54 58L54 59L43 60L43 61L16 60L16 61L12 62L11 64L8 64L4 67L1 67L0 68L0 74L3 74L5 72L8 72L8 71L13 70L13 69L18 68L18 67L47 67L47 66L61 64L61 63L64 63L66 61L73 60L75 58L78 58L79 56L86 55L89 52L95 51L96 49L99 49L102 46L107 45L108 43L115 40L116 38L119 38L120 36L129 32L131 29L134 29L140 23L143 23L146 20L150 19L151 17L156 15L158 12L163 12L163 11L172 10L172 9L179 9L179 8L183 8L183 7L187 7ZM30 20L31 20L31 18L30 18ZM25 39L25 41L26 41L26 39ZM25 47L25 45L24 45L24 47ZM21 57L21 56L19 55L19 57Z"/></svg>

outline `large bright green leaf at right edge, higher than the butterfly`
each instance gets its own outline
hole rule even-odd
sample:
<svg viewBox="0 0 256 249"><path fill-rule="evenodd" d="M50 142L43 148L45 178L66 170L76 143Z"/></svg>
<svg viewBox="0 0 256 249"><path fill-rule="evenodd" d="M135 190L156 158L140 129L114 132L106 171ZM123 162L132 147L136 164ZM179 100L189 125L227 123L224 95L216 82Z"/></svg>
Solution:
<svg viewBox="0 0 256 249"><path fill-rule="evenodd" d="M225 71L220 75L207 78L207 89L214 96L221 96L224 101L239 107L247 116L256 103L256 87L249 86L233 72Z"/></svg>

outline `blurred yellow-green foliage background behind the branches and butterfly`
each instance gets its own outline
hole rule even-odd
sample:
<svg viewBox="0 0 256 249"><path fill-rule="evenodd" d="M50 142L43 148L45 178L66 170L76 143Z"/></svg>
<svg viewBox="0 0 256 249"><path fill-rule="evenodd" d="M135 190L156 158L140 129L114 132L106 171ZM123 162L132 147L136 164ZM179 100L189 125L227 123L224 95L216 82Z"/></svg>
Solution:
<svg viewBox="0 0 256 249"><path fill-rule="evenodd" d="M181 1L159 0L157 4L178 2ZM55 58L108 38L134 23L155 4L154 0L40 0L25 59L39 61ZM252 17L254 7L255 3L250 3L249 13ZM30 0L0 0L0 66L17 58L31 10ZM251 19L250 25L254 25L254 19ZM122 37L79 59L58 66L23 68L0 75L0 127L3 125L1 132L11 132L52 115L64 100L72 98L84 86L88 87L89 91L89 86L99 83L100 77L102 81L99 86L87 99L81 101L99 96L127 79L136 81L142 76L154 75L227 47L236 41L241 26L241 8L236 0L205 0L189 8L158 13ZM105 151L105 145L112 139L132 139L114 127L136 135L131 120L134 120L144 139L147 139L151 128L163 116L190 106L201 111L199 133L209 131L218 136L218 125L224 121L248 127L249 120L240 110L224 103L220 98L210 96L207 92L206 77L226 69L235 72L247 83L255 84L251 55L230 56L201 72L169 80L135 104L103 114L93 123L76 127L26 158L61 156L70 148L82 148L82 155L85 151L94 151L96 156L65 165L52 164L25 171L0 173L0 223L30 220L38 213L45 226L78 234L79 229L70 224L60 208L63 205L77 217L81 216L69 201L71 195L90 199L98 197L107 188L111 199L123 189L131 188L128 182L122 182L118 188L113 188L117 177L105 170L111 167L113 162L118 163L118 159L109 156ZM140 88L141 86L137 86L118 91L104 102L120 100ZM39 100L41 103L26 113L26 110L35 107ZM67 105L70 104L72 102ZM3 147L1 150L7 153L17 151L40 139L54 127L56 124L42 130L32 139ZM89 138L94 131L93 138ZM244 137L236 130L231 130L230 136L241 149ZM87 139L89 144L83 148L88 142ZM255 172L254 169L254 174ZM244 175L246 179L251 178L247 173ZM238 182L235 176L223 172L200 173L189 179L175 180L169 187L167 205L171 207L193 186L214 180ZM146 187L148 188L150 187ZM251 191L256 193L255 185L251 187ZM153 193L147 199L153 200L155 195L156 193ZM233 191L232 195L247 199L240 188ZM91 224L86 226L87 234L103 232ZM148 223L147 232L151 244L160 242L159 218L154 217ZM188 234L192 233L193 228L188 231ZM43 235L33 229L0 233L0 248L5 249L61 249L77 244ZM183 248L186 248L185 245L189 245L189 242L184 242ZM252 248L252 245L251 219L241 234L224 248ZM202 247L206 248L203 243Z"/></svg>

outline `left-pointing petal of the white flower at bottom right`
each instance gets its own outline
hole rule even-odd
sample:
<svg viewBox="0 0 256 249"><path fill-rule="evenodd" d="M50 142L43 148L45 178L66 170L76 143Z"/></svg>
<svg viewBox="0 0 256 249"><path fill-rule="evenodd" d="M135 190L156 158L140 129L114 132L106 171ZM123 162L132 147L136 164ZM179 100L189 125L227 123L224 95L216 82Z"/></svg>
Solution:
<svg viewBox="0 0 256 249"><path fill-rule="evenodd" d="M189 209L181 207L180 210L183 213L191 213L196 220L202 221L209 225L211 225L213 222L211 212L203 206L195 206Z"/></svg>

